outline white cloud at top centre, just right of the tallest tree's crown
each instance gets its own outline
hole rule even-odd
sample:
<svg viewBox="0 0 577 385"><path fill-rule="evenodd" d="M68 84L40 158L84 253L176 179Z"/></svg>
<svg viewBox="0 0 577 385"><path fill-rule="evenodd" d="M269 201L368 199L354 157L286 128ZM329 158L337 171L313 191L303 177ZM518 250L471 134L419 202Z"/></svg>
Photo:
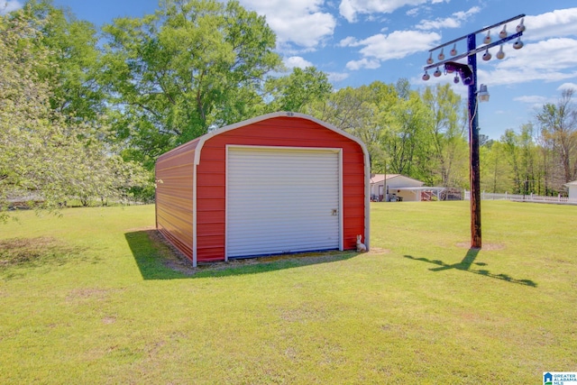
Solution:
<svg viewBox="0 0 577 385"><path fill-rule="evenodd" d="M314 50L333 36L336 27L334 16L321 8L324 0L241 0L241 4L266 16L281 48L292 43Z"/></svg>

